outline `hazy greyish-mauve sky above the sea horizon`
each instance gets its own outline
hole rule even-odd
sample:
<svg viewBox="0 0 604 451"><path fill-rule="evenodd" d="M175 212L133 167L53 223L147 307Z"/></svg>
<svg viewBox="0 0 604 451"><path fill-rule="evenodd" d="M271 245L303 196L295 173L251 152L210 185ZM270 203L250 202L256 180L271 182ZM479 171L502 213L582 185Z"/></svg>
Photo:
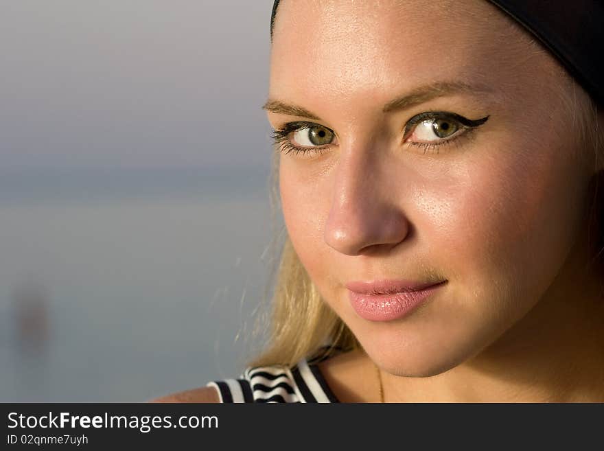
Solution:
<svg viewBox="0 0 604 451"><path fill-rule="evenodd" d="M272 0L0 5L0 173L268 166Z"/></svg>

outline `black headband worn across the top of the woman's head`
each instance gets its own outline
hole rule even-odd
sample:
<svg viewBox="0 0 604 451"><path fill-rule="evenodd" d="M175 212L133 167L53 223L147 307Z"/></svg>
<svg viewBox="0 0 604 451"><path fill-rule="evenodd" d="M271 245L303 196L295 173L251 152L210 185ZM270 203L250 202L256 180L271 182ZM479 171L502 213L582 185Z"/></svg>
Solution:
<svg viewBox="0 0 604 451"><path fill-rule="evenodd" d="M603 0L487 0L509 14L544 45L604 104ZM272 5L270 37L279 0Z"/></svg>

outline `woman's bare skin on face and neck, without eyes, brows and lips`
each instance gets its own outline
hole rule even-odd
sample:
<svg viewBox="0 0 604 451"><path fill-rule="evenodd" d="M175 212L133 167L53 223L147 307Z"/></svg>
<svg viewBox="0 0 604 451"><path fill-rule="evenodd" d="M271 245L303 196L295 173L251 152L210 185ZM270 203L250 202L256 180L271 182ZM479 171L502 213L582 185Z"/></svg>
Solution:
<svg viewBox="0 0 604 451"><path fill-rule="evenodd" d="M476 89L384 112L435 82ZM281 2L268 120L334 131L320 153L281 154L279 187L303 266L363 348L321 367L340 400L376 401L377 365L387 402L604 401L585 239L602 168L563 100L573 89L482 0ZM424 111L489 119L424 154L402 132ZM382 279L447 284L402 319L361 318L345 284Z"/></svg>

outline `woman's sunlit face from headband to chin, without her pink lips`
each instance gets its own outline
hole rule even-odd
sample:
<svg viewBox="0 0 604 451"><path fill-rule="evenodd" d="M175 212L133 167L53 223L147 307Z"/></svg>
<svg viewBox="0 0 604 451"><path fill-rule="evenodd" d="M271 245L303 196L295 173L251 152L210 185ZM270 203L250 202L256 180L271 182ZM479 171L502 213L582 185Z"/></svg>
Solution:
<svg viewBox="0 0 604 451"><path fill-rule="evenodd" d="M458 365L561 277L593 172L569 86L483 0L279 5L266 109L290 150L286 227L386 371ZM359 314L347 284L384 280L446 283L405 316Z"/></svg>

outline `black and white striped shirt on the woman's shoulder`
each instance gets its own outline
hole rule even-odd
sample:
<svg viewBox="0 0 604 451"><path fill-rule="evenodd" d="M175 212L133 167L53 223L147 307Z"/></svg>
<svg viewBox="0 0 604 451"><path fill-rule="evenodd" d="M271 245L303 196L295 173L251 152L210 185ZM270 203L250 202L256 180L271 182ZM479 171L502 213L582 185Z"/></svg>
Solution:
<svg viewBox="0 0 604 451"><path fill-rule="evenodd" d="M239 379L210 382L220 402L339 402L318 369L316 360L294 367L248 368Z"/></svg>

